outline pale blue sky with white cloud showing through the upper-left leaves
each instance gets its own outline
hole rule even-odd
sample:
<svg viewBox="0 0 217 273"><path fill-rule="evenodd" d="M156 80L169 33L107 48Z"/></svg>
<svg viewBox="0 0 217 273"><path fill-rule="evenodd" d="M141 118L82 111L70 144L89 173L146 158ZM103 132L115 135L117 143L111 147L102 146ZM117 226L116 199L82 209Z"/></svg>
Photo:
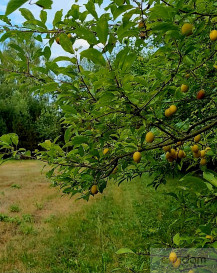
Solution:
<svg viewBox="0 0 217 273"><path fill-rule="evenodd" d="M0 14L4 14L6 11L6 7L7 4L9 2L9 0L0 0ZM109 0L108 0L109 1ZM39 18L39 14L41 11L41 8L39 8L37 5L30 5L29 4L30 1L28 1L26 4L24 4L22 6L22 8L27 8L29 9L33 15L35 16L36 19ZM31 2L35 2L34 0ZM81 8L83 10L85 10L85 6L84 4L87 2L87 0L78 0L76 4L80 5ZM47 20L47 25L52 25L52 21L54 18L55 13L58 10L63 9L63 14L65 15L67 13L67 11L70 9L70 7L75 4L75 0L53 0L53 6L51 10L46 10L48 13L48 20ZM102 10L98 10L99 13L102 13ZM25 21L25 19L22 17L22 15L20 14L19 10L16 10L15 12L13 12L9 18L12 20L12 24L17 24L17 25L21 25L22 22ZM1 23L0 23L1 24ZM89 47L88 43L84 40L78 40L76 41L74 48L78 48L82 46L83 49L87 49ZM70 56L70 53L66 53L62 47L56 43L53 44L52 46L52 57L58 57L58 56L63 56L63 55L67 55Z"/></svg>

